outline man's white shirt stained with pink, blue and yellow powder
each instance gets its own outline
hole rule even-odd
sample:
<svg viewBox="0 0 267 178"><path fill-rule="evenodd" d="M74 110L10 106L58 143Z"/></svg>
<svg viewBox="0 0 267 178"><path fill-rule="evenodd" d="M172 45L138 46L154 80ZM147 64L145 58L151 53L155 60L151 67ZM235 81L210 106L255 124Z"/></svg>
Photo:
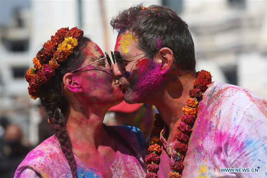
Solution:
<svg viewBox="0 0 267 178"><path fill-rule="evenodd" d="M199 103L182 177L267 177L266 115L265 99L245 88L214 82ZM170 171L169 166L164 169Z"/></svg>

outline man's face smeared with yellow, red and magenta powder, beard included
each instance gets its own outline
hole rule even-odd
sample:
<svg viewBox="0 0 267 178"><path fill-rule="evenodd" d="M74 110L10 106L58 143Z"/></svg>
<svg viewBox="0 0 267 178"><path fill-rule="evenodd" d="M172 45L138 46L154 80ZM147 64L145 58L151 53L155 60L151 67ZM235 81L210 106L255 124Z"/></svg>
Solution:
<svg viewBox="0 0 267 178"><path fill-rule="evenodd" d="M162 63L148 59L142 54L146 51L137 48L132 32L128 30L120 31L114 50L119 51L125 59L125 71L121 71L116 64L113 69L114 77L120 78L119 84L124 100L131 104L153 102L153 96L162 88L164 80L161 72Z"/></svg>

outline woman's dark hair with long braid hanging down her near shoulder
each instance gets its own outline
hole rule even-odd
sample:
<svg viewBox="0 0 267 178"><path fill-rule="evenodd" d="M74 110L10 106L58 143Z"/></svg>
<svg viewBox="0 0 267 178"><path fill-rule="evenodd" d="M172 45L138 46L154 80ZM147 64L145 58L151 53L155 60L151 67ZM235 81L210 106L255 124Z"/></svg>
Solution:
<svg viewBox="0 0 267 178"><path fill-rule="evenodd" d="M66 130L66 122L60 117L60 112L64 115L68 109L68 101L63 91L63 76L75 69L78 69L84 60L83 49L87 47L87 42L91 39L81 37L78 46L73 49L73 53L68 56L67 60L60 63L56 69L56 75L51 77L50 81L42 85L40 90L40 101L45 107L45 111L49 116L53 128L56 129L56 137L60 143L61 150L64 153L70 169L72 177L77 177L76 162L72 152L72 145Z"/></svg>

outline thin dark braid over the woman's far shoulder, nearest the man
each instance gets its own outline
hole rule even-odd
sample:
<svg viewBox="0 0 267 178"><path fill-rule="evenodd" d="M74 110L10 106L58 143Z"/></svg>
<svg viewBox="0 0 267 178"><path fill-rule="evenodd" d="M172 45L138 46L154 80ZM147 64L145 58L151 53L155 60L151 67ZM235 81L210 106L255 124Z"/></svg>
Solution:
<svg viewBox="0 0 267 178"><path fill-rule="evenodd" d="M145 163L143 163L142 161L139 160L137 153L135 152L135 150L132 148L131 144L124 139L123 136L121 136L121 134L119 134L118 131L116 131L114 128L112 127L108 127L107 125L105 125L103 123L103 127L105 129L105 131L107 131L109 134L111 134L114 138L116 138L121 144L123 144L134 156L135 158L143 165L146 167Z"/></svg>

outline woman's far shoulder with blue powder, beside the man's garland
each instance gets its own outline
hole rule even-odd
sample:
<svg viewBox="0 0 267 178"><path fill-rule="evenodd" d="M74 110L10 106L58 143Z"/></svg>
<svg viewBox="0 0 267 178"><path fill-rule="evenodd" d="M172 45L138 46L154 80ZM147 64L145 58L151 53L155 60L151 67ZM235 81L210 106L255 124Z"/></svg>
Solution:
<svg viewBox="0 0 267 178"><path fill-rule="evenodd" d="M109 126L117 131L124 139L126 139L135 150L146 149L146 139L142 131L135 126Z"/></svg>

